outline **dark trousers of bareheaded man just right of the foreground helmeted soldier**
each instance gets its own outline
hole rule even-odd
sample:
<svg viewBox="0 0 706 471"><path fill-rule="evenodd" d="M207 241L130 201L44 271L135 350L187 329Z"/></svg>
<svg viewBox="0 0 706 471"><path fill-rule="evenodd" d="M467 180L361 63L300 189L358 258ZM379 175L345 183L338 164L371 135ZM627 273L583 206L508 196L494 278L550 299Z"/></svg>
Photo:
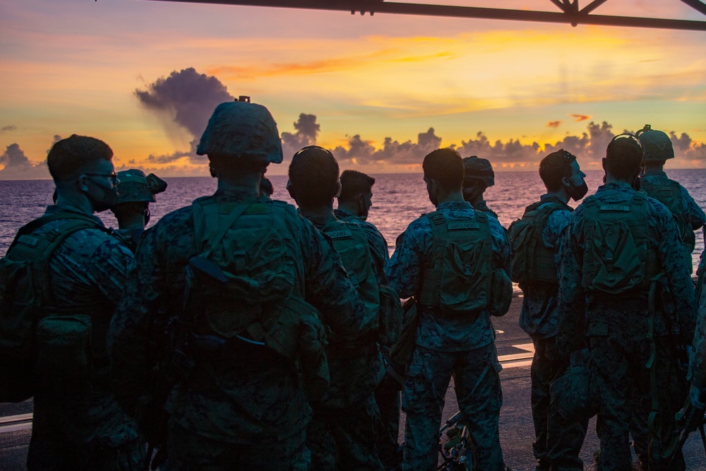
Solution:
<svg viewBox="0 0 706 471"><path fill-rule="evenodd" d="M345 410L314 407L306 427L311 471L383 471L376 441L380 412L371 392Z"/></svg>

